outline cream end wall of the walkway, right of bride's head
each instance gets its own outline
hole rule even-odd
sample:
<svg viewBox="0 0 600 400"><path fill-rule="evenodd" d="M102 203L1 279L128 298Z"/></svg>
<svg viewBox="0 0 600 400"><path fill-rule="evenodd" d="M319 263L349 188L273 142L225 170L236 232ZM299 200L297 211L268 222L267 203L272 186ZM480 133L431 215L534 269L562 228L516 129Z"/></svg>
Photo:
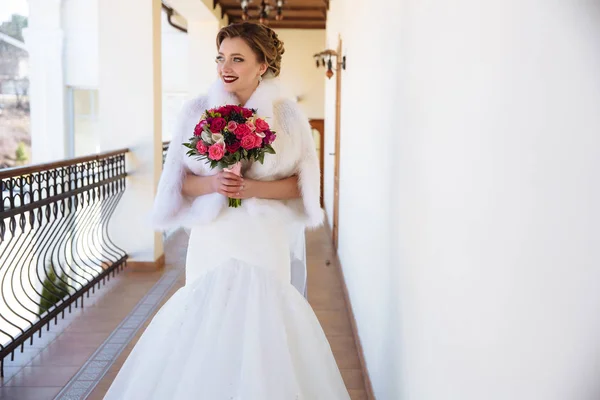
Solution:
<svg viewBox="0 0 600 400"><path fill-rule="evenodd" d="M323 29L278 29L285 53L281 63L281 81L308 118L325 115L325 69L315 65L313 55L325 49Z"/></svg>

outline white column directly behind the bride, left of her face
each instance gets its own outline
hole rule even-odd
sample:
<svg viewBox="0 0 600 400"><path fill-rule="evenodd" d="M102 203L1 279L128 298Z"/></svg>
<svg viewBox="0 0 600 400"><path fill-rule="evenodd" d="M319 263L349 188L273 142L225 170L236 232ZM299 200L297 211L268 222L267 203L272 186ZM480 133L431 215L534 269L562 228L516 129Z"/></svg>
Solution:
<svg viewBox="0 0 600 400"><path fill-rule="evenodd" d="M189 37L189 95L206 93L216 77L216 37L219 22L188 20Z"/></svg>

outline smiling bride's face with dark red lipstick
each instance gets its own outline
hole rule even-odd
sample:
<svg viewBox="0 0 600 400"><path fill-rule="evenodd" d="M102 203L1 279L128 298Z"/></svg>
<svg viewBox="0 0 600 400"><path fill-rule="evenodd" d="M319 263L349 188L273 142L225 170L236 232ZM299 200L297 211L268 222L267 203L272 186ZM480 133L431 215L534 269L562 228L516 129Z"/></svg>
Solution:
<svg viewBox="0 0 600 400"><path fill-rule="evenodd" d="M240 93L256 89L258 77L266 70L267 65L258 62L256 54L242 38L226 38L221 42L217 55L217 72L228 92Z"/></svg>

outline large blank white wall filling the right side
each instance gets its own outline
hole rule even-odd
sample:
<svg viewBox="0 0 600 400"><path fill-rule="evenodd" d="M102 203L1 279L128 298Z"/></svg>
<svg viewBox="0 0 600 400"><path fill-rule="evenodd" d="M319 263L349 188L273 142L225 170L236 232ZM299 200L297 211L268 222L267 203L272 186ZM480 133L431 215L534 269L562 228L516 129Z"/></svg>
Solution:
<svg viewBox="0 0 600 400"><path fill-rule="evenodd" d="M382 3L376 27L332 2L328 30L348 55L340 257L377 398L600 398L598 3ZM394 105L377 164L353 123L367 73L367 104Z"/></svg>

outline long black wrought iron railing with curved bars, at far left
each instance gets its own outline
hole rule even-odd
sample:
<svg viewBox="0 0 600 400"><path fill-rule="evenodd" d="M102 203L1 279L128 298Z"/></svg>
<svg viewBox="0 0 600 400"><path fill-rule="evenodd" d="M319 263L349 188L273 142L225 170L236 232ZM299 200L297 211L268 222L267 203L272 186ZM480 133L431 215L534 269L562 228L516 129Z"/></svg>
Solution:
<svg viewBox="0 0 600 400"><path fill-rule="evenodd" d="M0 375L52 320L122 270L110 217L127 150L0 170Z"/></svg>

